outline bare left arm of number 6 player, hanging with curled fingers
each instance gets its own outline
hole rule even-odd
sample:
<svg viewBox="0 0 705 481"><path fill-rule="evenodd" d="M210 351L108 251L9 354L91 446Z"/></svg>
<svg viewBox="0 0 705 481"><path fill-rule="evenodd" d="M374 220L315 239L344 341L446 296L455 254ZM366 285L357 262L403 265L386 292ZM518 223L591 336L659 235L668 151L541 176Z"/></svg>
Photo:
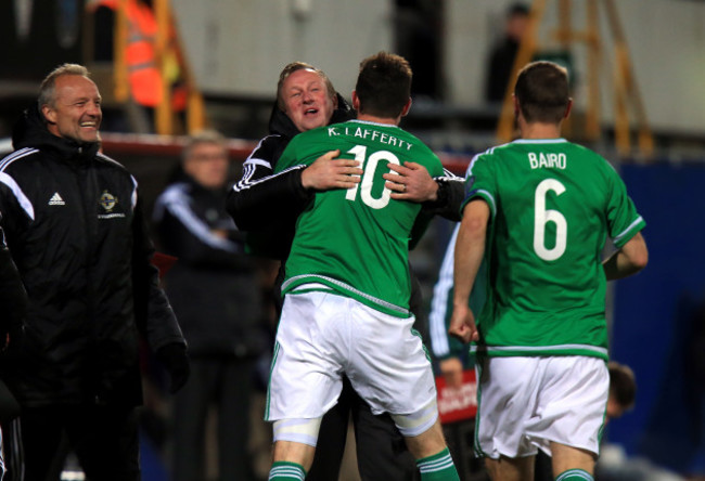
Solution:
<svg viewBox="0 0 705 481"><path fill-rule="evenodd" d="M489 221L489 206L483 199L471 200L463 209L456 242L456 261L453 264L453 315L448 333L464 342L479 339L475 317L470 310L470 292L473 289L479 264L485 253L485 235Z"/></svg>

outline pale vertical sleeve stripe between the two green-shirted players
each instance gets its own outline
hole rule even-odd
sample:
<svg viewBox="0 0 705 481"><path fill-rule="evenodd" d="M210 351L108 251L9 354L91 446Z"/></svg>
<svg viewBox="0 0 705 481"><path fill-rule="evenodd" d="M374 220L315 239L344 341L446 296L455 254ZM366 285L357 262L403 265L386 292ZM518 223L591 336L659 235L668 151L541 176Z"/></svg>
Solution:
<svg viewBox="0 0 705 481"><path fill-rule="evenodd" d="M456 239L460 224L450 236L446 255L440 264L438 282L433 289L433 299L431 301L431 314L428 315L428 333L431 336L431 348L436 356L448 355L450 344L448 342L448 329L446 328L446 318L448 316L448 295L453 287L453 259L456 251Z"/></svg>

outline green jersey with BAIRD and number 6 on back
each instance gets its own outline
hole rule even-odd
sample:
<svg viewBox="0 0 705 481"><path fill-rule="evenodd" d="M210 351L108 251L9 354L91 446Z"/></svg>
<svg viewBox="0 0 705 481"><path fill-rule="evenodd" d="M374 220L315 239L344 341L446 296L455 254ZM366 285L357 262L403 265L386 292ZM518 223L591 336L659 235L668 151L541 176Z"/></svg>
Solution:
<svg viewBox="0 0 705 481"><path fill-rule="evenodd" d="M488 355L606 360L602 249L645 225L617 172L564 139L517 140L472 160L466 192L491 211L477 321Z"/></svg>

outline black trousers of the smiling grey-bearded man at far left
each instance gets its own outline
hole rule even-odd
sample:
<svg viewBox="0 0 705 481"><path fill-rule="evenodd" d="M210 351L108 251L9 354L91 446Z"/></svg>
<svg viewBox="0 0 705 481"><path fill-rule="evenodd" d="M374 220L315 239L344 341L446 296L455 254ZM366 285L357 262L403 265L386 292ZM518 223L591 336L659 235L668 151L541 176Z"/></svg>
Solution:
<svg viewBox="0 0 705 481"><path fill-rule="evenodd" d="M20 437L25 481L57 481L57 458L70 448L89 480L140 481L136 407L47 406L23 408ZM18 446L11 446L16 450Z"/></svg>

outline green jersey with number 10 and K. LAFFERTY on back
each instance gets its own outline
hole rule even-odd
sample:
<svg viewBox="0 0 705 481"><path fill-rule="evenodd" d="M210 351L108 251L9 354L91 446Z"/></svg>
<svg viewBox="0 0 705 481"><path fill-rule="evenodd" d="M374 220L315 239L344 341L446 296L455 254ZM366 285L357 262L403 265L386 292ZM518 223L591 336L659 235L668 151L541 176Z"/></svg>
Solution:
<svg viewBox="0 0 705 481"><path fill-rule="evenodd" d="M395 200L382 176L414 161L443 176L438 157L396 126L350 120L296 135L274 172L310 165L326 152L364 170L348 190L319 192L296 223L282 292L332 290L400 317L409 315L408 252L421 205ZM422 231L422 229L421 229Z"/></svg>

